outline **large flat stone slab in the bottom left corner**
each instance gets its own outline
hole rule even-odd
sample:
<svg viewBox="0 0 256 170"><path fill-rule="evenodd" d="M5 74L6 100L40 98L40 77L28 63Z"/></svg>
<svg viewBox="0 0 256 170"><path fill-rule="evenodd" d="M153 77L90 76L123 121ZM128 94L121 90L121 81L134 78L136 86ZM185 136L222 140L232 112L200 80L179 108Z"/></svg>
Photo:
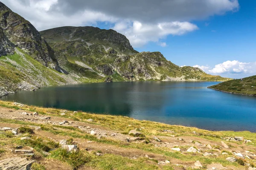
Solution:
<svg viewBox="0 0 256 170"><path fill-rule="evenodd" d="M34 160L26 158L7 158L0 161L0 170L30 170Z"/></svg>

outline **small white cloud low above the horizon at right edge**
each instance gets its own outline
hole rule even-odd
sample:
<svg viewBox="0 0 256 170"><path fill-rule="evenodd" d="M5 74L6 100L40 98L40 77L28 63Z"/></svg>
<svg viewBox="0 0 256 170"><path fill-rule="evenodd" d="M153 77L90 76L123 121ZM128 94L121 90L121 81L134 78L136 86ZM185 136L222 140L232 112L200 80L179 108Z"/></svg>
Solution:
<svg viewBox="0 0 256 170"><path fill-rule="evenodd" d="M256 62L225 61L209 70L211 74L256 74Z"/></svg>

